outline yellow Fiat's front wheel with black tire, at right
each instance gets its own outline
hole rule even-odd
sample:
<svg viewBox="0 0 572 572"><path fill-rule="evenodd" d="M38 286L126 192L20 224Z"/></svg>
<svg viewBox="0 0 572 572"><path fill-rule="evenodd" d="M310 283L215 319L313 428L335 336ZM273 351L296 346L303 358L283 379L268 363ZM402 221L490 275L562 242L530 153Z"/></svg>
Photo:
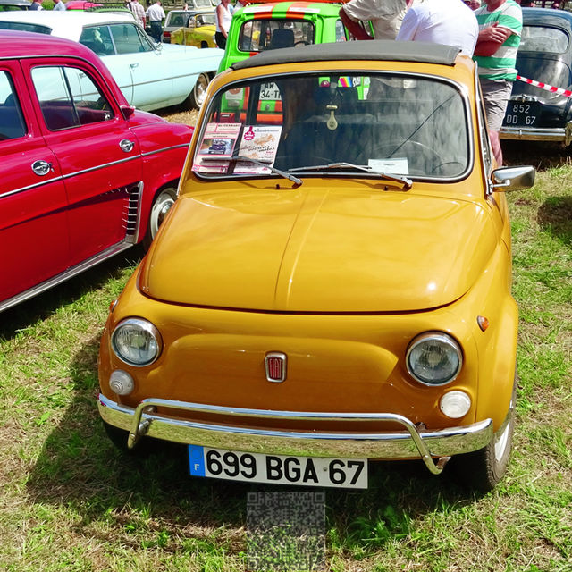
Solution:
<svg viewBox="0 0 572 572"><path fill-rule="evenodd" d="M516 398L517 380L515 376L509 413L499 431L492 435L491 442L483 449L456 455L450 459L450 468L459 484L478 492L489 492L506 475L512 450Z"/></svg>

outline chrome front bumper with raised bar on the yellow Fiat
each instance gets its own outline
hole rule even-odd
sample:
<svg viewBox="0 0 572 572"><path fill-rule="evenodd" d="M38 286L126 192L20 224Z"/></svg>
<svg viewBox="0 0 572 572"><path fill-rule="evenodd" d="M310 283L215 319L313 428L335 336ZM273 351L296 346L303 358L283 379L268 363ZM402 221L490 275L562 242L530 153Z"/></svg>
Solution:
<svg viewBox="0 0 572 572"><path fill-rule="evenodd" d="M99 413L109 425L129 431L128 446L147 435L171 442L197 444L215 449L240 450L272 455L332 458L422 458L427 468L438 475L451 455L482 449L492 440L492 419L473 425L426 431L407 417L392 413L321 413L228 408L187 401L148 399L137 408L128 408L99 394ZM172 408L218 416L300 421L387 421L404 427L388 433L318 433L276 431L255 427L190 421L175 416L157 415L156 408ZM438 458L437 462L433 458Z"/></svg>

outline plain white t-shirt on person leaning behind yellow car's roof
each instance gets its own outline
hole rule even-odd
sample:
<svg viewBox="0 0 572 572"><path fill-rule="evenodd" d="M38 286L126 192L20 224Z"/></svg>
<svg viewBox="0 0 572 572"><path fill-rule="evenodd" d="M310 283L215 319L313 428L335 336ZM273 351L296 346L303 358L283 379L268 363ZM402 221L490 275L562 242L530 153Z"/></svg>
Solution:
<svg viewBox="0 0 572 572"><path fill-rule="evenodd" d="M455 46L470 57L478 35L475 13L462 0L426 0L409 8L397 39Z"/></svg>

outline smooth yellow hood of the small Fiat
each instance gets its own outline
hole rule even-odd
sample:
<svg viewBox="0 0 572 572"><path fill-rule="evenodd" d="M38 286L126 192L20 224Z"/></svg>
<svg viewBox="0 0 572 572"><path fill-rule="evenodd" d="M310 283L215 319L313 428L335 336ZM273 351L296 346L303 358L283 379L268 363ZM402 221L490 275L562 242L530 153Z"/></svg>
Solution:
<svg viewBox="0 0 572 572"><path fill-rule="evenodd" d="M180 198L139 286L173 303L288 312L420 310L470 288L498 238L484 202L359 187Z"/></svg>

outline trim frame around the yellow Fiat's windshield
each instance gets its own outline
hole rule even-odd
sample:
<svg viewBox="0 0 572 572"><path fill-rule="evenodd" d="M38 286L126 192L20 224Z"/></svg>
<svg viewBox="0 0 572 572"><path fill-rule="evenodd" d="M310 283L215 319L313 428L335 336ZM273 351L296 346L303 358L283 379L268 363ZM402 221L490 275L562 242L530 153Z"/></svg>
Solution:
<svg viewBox="0 0 572 572"><path fill-rule="evenodd" d="M472 117L473 114L471 113L471 106L470 106L470 101L468 99L468 92L467 92L467 87L458 83L458 81L455 80L450 80L450 78L445 78L441 75L435 75L433 73L420 73L420 72L408 72L408 71L387 71L387 70L374 70L372 68L369 69L339 69L339 70L332 70L330 68L326 69L324 68L323 70L311 70L311 71L296 71L296 72L282 72L282 73L276 73L273 75L255 75L252 77L248 77L246 79L242 79L242 80L236 80L233 82L229 82L226 83L223 87L218 88L213 96L210 98L209 101L209 105L206 108L205 114L203 115L203 117L207 118L210 116L212 109L213 109L213 105L214 105L214 100L216 99L216 97L218 97L220 94L222 94L224 91L227 91L228 89L231 88L243 88L244 84L248 84L249 81L252 80L257 80L260 81L261 83L265 83L265 81L274 81L276 80L276 78L280 78L282 76L289 76L289 77L294 77L294 76L307 76L309 74L311 75L315 75L315 76L321 76L321 75L330 75L330 74L335 74L335 75L349 75L349 76L355 76L355 75L359 75L359 74L367 74L367 75L383 75L384 73L391 73L392 76L404 76L404 79L408 79L408 78L414 78L414 79L429 79L429 80L433 80L433 81L439 81L441 83L446 83L448 85L450 85L452 88L456 89L459 96L461 97L462 101L463 101L463 106L465 108L465 115L466 115L466 126L467 126L467 139L468 139L468 145L467 145L467 152L468 152L468 158L467 158L467 168L465 169L464 172L462 172L460 175L458 175L457 177L428 177L428 176L418 176L418 175L408 175L408 177L410 177L413 181L426 181L426 182L434 182L434 183L450 183L450 182L458 182L458 181L463 181L464 179L467 179L467 177L469 176L469 174L473 171L474 167L475 167L475 132L473 130L473 122L472 122ZM204 121L202 124L202 129L200 130L200 132L198 133L197 130L195 130L195 133L193 133L193 140L195 139L195 136L197 135L197 141L202 141L203 135L205 133L206 130L206 125L207 122ZM192 164L195 163L195 158L197 156L198 153L198 144L195 146L194 151L193 151L193 156L192 156ZM206 173L200 173L198 171L193 171L193 175L197 176L197 178L200 181L243 181L243 180L248 180L248 179L270 179L270 178L276 178L277 175L275 174L269 174L269 175L252 175L252 174L247 174L247 175L235 175L235 174L231 174L231 175L225 175L225 174L213 174L213 173L209 173L208 176L205 176ZM297 173L297 174L302 174L302 173ZM343 176L343 178L349 178L351 179L356 178L356 176L360 179L374 179L375 176L374 175L369 175L366 172L319 172L319 173L310 173L310 172L306 172L303 173L304 177L307 178L338 178Z"/></svg>

